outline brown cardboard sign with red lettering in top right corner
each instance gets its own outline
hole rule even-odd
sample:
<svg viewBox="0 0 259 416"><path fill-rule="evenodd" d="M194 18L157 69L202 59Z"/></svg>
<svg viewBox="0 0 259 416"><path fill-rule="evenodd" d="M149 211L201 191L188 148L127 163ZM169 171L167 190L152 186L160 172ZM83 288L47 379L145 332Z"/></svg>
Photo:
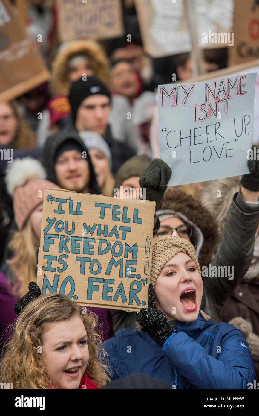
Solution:
<svg viewBox="0 0 259 416"><path fill-rule="evenodd" d="M234 46L229 50L229 65L259 58L259 2L235 0Z"/></svg>

